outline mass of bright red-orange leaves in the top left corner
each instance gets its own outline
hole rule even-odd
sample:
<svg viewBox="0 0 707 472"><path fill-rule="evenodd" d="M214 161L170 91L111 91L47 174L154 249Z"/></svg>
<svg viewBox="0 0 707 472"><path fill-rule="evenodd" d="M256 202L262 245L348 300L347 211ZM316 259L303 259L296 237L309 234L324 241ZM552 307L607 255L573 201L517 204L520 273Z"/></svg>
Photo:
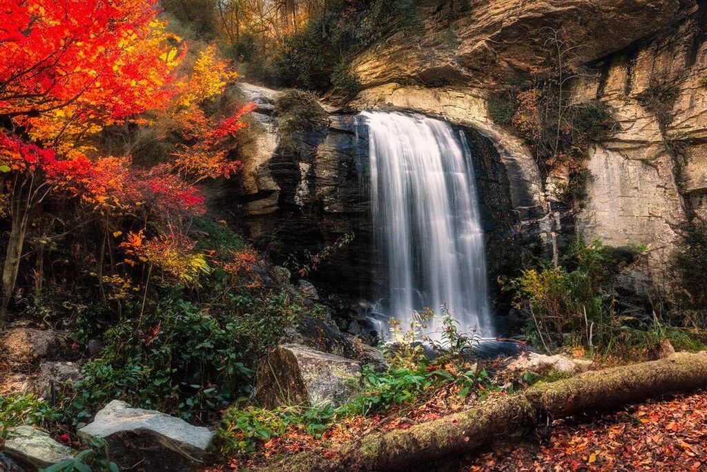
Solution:
<svg viewBox="0 0 707 472"><path fill-rule="evenodd" d="M156 0L7 3L0 18L0 114L35 139L73 141L167 105L178 54L155 21Z"/></svg>

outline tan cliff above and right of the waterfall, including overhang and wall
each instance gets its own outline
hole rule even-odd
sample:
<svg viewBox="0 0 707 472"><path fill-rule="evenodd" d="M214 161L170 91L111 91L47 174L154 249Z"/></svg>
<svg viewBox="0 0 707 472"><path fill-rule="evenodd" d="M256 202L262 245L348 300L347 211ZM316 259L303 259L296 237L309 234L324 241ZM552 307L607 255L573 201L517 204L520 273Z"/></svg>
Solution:
<svg viewBox="0 0 707 472"><path fill-rule="evenodd" d="M477 1L447 25L439 19L444 5L423 6L427 20L415 47L393 36L354 61L366 89L352 105L413 110L476 129L502 157L520 221L551 248L573 234L645 244L650 265L664 269L679 225L707 216L707 2ZM486 112L489 91L554 63L547 40L556 30L584 64L571 81L572 100L600 100L620 124L590 149L589 196L576 212L554 196L562 176L544 181L520 139ZM455 41L441 44L450 31Z"/></svg>

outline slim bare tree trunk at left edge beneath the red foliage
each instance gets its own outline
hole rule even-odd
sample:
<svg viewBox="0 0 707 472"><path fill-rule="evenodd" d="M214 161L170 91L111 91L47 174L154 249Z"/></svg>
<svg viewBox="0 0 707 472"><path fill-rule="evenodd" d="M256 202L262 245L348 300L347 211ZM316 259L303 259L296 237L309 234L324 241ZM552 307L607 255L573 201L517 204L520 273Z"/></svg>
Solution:
<svg viewBox="0 0 707 472"><path fill-rule="evenodd" d="M7 311L15 292L17 274L20 269L22 248L25 243L30 209L27 206L23 192L13 192L11 199L12 227L7 242L7 252L2 272L2 305L0 306L0 330L5 328Z"/></svg>

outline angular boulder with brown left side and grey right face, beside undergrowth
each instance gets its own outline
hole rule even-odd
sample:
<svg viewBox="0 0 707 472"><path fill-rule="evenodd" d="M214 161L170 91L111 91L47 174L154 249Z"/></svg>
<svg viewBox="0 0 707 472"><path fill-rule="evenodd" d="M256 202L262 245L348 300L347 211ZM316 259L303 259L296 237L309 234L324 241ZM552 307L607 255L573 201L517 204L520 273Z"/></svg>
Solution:
<svg viewBox="0 0 707 472"><path fill-rule="evenodd" d="M257 370L256 396L265 408L339 406L358 391L361 364L298 344L279 345Z"/></svg>

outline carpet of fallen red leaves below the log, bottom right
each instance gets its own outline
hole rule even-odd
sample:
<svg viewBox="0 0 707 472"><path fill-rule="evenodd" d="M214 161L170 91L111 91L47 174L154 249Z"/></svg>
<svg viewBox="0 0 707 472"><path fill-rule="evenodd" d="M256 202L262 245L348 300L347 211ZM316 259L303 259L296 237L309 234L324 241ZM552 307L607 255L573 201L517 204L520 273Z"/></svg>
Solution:
<svg viewBox="0 0 707 472"><path fill-rule="evenodd" d="M558 420L466 464L460 472L707 471L707 392Z"/></svg>

